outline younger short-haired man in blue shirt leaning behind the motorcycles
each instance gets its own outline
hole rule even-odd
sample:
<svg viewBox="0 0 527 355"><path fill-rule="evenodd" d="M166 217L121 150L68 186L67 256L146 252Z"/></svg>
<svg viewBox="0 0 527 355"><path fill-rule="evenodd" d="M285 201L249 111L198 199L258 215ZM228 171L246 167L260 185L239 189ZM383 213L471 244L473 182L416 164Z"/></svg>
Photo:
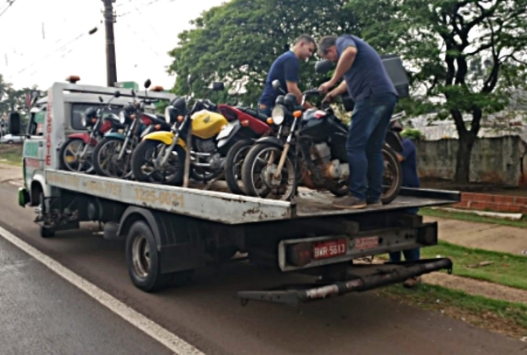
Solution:
<svg viewBox="0 0 527 355"><path fill-rule="evenodd" d="M291 50L281 54L271 65L267 74L264 92L258 100L258 109L267 116L271 116L272 108L280 92L272 87L274 80L280 81L280 87L285 92L295 94L298 104L301 103L302 92L298 89L298 79L300 76L300 61L309 59L315 51L315 40L308 34L300 35ZM311 107L309 103L305 108Z"/></svg>

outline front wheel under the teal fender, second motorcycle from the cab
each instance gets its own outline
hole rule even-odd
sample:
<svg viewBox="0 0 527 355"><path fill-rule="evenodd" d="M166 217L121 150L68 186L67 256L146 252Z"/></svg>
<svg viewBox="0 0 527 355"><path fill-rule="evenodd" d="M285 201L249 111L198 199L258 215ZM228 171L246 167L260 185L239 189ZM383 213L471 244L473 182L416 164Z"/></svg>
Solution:
<svg viewBox="0 0 527 355"><path fill-rule="evenodd" d="M120 138L106 137L103 138L93 149L92 161L93 168L97 175L116 177L116 178L125 178L131 174L130 157L125 152L121 162L124 161L124 166L122 164L117 164L115 161L116 155L119 155L119 150L123 145L124 140ZM107 151L110 151L109 153Z"/></svg>

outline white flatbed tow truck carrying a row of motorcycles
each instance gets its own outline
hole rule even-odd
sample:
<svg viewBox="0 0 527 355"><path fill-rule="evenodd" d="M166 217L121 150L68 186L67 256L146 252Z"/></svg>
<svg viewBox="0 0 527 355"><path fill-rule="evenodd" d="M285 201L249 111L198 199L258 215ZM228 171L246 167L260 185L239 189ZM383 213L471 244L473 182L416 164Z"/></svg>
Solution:
<svg viewBox="0 0 527 355"><path fill-rule="evenodd" d="M33 206L44 238L56 231L99 222L107 239L125 239L130 279L145 292L183 285L194 270L242 255L277 273L313 276L313 282L273 289L241 290L248 300L297 304L404 282L408 277L452 270L448 258L384 264L359 262L375 255L437 244L437 223L405 209L459 202L458 191L402 188L390 204L360 210L331 206L332 195L302 190L292 202L234 195L222 181L187 187L154 185L59 168L68 134L81 130L79 112L114 95L116 88L55 82L35 99L23 149L24 187L19 205ZM113 104L131 101L119 89ZM166 92L139 98L171 100ZM154 109L154 108L150 108ZM19 114L9 117L19 132ZM243 256L245 255L245 256Z"/></svg>

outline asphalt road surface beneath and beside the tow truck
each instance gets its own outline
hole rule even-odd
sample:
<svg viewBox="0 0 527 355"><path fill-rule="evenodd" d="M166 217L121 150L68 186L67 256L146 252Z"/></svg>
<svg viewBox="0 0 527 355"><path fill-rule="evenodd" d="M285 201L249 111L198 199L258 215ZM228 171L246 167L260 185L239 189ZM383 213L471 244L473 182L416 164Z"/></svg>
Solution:
<svg viewBox="0 0 527 355"><path fill-rule="evenodd" d="M16 188L0 184L0 196L2 227L207 354L527 354L519 340L370 293L243 307L239 290L301 280L245 262L200 271L183 288L144 293L129 280L123 242L105 241L93 224L43 239L33 209L17 206ZM2 353L6 343L7 353L165 351L2 238L0 280Z"/></svg>

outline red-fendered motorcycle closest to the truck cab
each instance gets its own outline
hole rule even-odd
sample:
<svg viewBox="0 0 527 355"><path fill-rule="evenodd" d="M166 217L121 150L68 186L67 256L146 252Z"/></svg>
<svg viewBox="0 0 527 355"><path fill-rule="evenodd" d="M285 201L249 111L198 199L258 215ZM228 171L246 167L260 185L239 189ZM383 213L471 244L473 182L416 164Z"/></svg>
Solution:
<svg viewBox="0 0 527 355"><path fill-rule="evenodd" d="M102 103L102 98L99 97ZM110 99L111 101L111 99ZM110 102L108 102L109 104ZM106 132L118 131L124 126L116 114L104 116L105 108L89 107L83 112L82 126L87 132L68 136L60 149L60 166L63 170L93 172L92 152Z"/></svg>

